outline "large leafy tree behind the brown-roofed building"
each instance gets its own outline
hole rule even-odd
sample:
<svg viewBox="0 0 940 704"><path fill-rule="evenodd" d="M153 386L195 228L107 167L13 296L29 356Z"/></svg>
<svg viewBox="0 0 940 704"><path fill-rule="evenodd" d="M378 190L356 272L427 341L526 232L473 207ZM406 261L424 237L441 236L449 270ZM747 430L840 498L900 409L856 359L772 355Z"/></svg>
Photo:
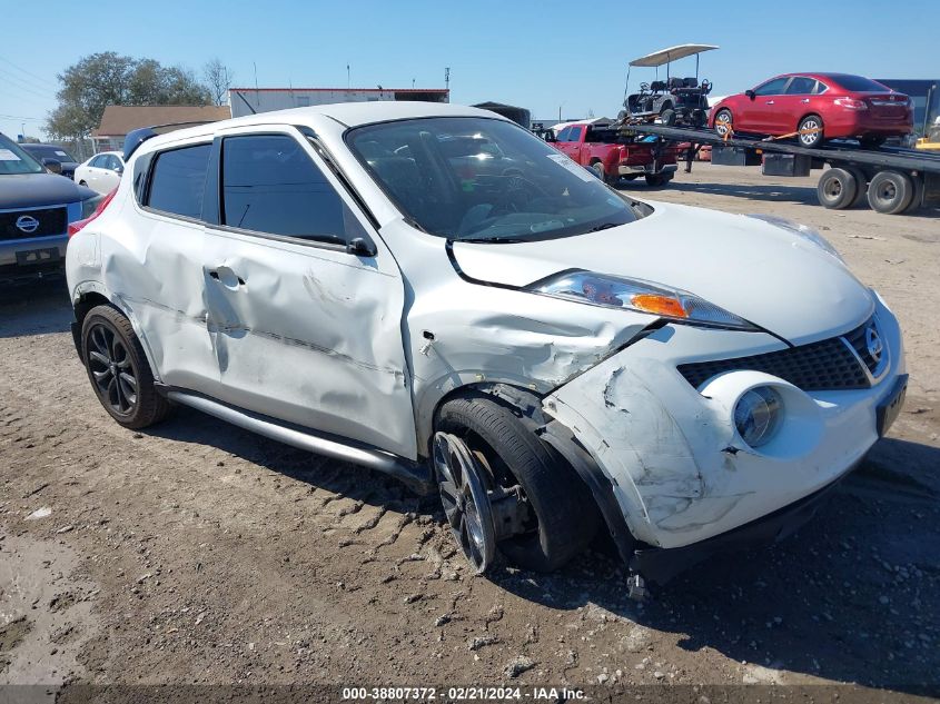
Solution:
<svg viewBox="0 0 940 704"><path fill-rule="evenodd" d="M81 58L59 75L59 106L46 123L46 131L53 139L88 137L109 105L211 103L208 88L191 71L113 51Z"/></svg>

